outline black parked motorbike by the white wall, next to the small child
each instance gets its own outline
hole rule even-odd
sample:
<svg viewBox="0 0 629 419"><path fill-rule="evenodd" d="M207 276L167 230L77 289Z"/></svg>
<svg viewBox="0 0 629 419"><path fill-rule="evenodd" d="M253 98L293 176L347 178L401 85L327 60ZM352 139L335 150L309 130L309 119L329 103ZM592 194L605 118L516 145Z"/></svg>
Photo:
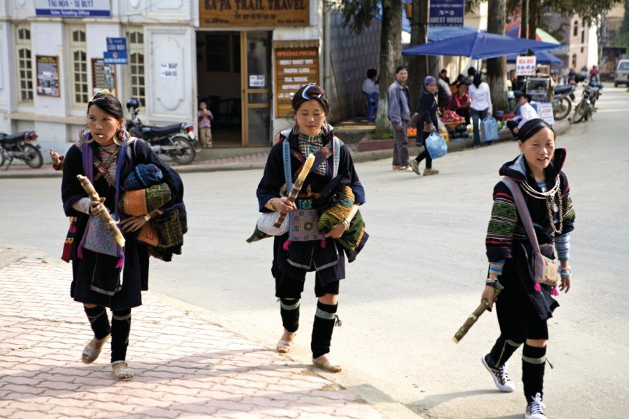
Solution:
<svg viewBox="0 0 629 419"><path fill-rule="evenodd" d="M189 164L201 150L194 135L194 125L185 122L168 126L144 125L138 118L140 101L136 98L126 101L126 110L131 112L131 119L125 124L126 131L145 140L156 154L165 154L179 164Z"/></svg>

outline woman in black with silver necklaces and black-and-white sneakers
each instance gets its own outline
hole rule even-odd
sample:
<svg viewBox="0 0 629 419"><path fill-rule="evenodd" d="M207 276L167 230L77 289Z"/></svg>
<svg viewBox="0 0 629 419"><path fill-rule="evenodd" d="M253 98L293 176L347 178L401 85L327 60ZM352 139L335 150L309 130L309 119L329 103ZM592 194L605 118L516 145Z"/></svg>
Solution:
<svg viewBox="0 0 629 419"><path fill-rule="evenodd" d="M558 255L559 291L570 290L570 232L574 209L567 177L561 171L565 149L555 148L555 133L542 119L531 119L518 133L521 154L500 168L521 191L533 221L540 250L547 258ZM556 288L539 284L530 265L533 245L516 207L514 193L498 182L493 189L493 209L486 236L489 276L481 299L493 304L494 288L504 286L496 300L500 336L482 357L498 390L512 392L514 382L507 374L507 360L519 346L522 350L522 383L526 419L544 419L544 367L548 341L548 319L559 306Z"/></svg>

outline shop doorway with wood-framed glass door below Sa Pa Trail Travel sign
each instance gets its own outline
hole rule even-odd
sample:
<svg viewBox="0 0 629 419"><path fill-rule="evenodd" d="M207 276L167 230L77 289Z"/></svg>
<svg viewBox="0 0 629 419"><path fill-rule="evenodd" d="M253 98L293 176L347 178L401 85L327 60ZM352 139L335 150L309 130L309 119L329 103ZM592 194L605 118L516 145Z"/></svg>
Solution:
<svg viewBox="0 0 629 419"><path fill-rule="evenodd" d="M214 115L212 147L271 143L270 31L198 31L198 100Z"/></svg>

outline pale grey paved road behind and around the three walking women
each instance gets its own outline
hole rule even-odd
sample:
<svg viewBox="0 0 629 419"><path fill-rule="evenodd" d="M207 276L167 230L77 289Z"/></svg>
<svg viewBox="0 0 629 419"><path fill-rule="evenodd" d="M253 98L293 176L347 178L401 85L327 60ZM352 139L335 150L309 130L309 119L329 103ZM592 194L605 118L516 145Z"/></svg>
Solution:
<svg viewBox="0 0 629 419"><path fill-rule="evenodd" d="M572 290L550 321L547 413L553 418L623 418L629 406L629 286L621 281L629 245L629 94L606 88L595 120L558 138L577 211ZM498 333L485 315L461 344L451 337L475 308L486 274L484 234L498 168L514 142L435 161L442 174L391 172L359 163L370 242L348 267L340 296L342 328L333 354L347 372L330 378L363 394L393 399L425 417L519 418L519 388L502 394L480 364ZM281 323L270 277L271 243L246 244L256 219L256 170L187 173L190 232L184 255L152 263L152 291L209 309L230 330L273 346ZM614 189L611 189L613 186ZM1 179L3 238L61 252L66 221L59 179ZM296 360L308 362L315 298L302 304ZM519 354L519 353L518 353Z"/></svg>

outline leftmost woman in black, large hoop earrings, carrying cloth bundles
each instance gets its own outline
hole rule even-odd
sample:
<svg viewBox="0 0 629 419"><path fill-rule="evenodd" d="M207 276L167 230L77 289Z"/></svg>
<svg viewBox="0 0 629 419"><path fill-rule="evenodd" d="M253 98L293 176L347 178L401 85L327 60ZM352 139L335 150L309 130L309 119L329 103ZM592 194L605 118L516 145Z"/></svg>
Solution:
<svg viewBox="0 0 629 419"><path fill-rule="evenodd" d="M76 218L70 295L75 301L82 302L94 332L94 338L83 349L82 362L94 362L111 338L113 374L117 380L128 381L133 378L133 371L126 364L131 309L142 304L141 291L148 287L149 254L156 256L159 253L164 260L170 260L173 253L181 253L180 244L160 247L161 243L158 243L159 249L149 247L140 241L140 233L143 228L152 226L150 220L154 218L160 223L168 223L173 232L176 230L178 233L173 233L173 237L185 233L187 226L179 175L145 142L129 139L129 133L123 128L123 117L120 101L109 91L103 90L92 96L87 103L87 125L79 133L79 142L68 149L64 159L62 200L66 216ZM129 188L125 180L131 173L143 172L140 166L151 165L161 172L159 182L170 190L166 194L168 200L164 198L165 205L147 210L145 214L124 214L126 208L121 209L118 202L119 198L122 202L124 188L141 189ZM101 197L99 201L89 198L77 175L89 179ZM160 191L165 188L163 186ZM146 201L149 201L148 197ZM104 208L120 221L118 226L124 235L124 247L120 247L111 233L103 228L101 213ZM106 307L112 311L111 323Z"/></svg>

